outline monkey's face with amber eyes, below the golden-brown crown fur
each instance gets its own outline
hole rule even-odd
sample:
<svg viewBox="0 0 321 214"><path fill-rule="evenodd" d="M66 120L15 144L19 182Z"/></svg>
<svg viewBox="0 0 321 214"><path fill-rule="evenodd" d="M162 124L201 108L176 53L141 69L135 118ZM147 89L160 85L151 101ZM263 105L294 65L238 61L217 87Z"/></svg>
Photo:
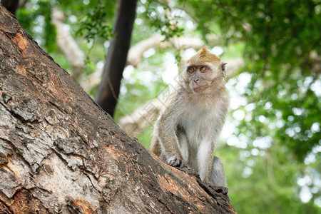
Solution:
<svg viewBox="0 0 321 214"><path fill-rule="evenodd" d="M185 86L194 93L210 93L223 81L223 63L203 63L190 65L185 71Z"/></svg>

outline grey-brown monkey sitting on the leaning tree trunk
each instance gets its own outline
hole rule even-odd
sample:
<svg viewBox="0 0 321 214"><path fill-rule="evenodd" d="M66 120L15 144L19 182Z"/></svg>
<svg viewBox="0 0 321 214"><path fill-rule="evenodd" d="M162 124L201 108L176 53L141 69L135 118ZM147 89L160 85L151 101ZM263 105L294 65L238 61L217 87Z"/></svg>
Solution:
<svg viewBox="0 0 321 214"><path fill-rule="evenodd" d="M169 165L188 165L205 183L223 187L223 163L213 153L230 103L225 64L206 46L188 59L156 120L150 148Z"/></svg>

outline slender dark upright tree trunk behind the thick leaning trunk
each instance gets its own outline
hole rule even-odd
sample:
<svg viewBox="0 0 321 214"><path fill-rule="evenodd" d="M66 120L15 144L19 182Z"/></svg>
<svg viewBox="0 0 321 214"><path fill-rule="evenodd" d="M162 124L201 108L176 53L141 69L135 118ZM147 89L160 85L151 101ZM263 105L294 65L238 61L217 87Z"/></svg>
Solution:
<svg viewBox="0 0 321 214"><path fill-rule="evenodd" d="M113 33L115 39L111 40L108 49L103 77L98 86L96 101L103 110L113 116L118 101L123 69L131 43L131 32L136 15L136 0L118 0L116 21Z"/></svg>

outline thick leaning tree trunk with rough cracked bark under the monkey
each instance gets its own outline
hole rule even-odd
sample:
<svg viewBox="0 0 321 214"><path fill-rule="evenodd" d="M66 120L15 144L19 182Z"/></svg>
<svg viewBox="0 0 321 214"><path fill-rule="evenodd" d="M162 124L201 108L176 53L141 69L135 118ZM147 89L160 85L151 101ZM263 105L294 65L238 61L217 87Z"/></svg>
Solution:
<svg viewBox="0 0 321 214"><path fill-rule="evenodd" d="M235 213L130 138L0 5L0 213Z"/></svg>

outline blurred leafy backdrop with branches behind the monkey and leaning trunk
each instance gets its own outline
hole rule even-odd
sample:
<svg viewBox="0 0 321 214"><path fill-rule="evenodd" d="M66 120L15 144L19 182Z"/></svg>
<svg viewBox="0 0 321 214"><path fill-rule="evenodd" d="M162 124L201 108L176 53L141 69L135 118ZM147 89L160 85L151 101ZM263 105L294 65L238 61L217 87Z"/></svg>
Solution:
<svg viewBox="0 0 321 214"><path fill-rule="evenodd" d="M207 45L228 63L230 113L215 153L235 210L321 213L320 0L0 2L90 96L110 88L105 110L147 148L184 61ZM115 43L121 28L127 47Z"/></svg>

